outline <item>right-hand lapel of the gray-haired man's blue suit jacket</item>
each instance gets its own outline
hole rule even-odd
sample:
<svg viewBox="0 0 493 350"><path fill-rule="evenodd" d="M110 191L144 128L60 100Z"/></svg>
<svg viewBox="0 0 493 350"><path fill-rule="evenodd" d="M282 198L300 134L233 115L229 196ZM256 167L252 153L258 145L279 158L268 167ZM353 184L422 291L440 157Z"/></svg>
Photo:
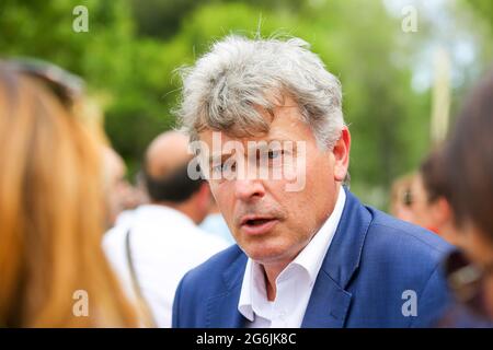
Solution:
<svg viewBox="0 0 493 350"><path fill-rule="evenodd" d="M356 272L371 215L346 190L346 203L317 277L301 327L344 327L352 294L345 289Z"/></svg>

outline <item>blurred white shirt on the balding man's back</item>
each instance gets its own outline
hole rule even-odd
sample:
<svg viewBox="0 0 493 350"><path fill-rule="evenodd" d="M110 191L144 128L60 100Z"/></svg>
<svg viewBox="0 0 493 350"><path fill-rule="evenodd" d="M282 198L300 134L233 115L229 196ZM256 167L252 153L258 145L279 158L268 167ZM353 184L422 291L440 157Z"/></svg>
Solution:
<svg viewBox="0 0 493 350"><path fill-rule="evenodd" d="M125 237L131 230L131 257L142 295L158 327L171 327L173 299L182 277L228 247L202 231L185 214L164 206L141 206L126 215L103 240L103 247L124 289L135 298Z"/></svg>

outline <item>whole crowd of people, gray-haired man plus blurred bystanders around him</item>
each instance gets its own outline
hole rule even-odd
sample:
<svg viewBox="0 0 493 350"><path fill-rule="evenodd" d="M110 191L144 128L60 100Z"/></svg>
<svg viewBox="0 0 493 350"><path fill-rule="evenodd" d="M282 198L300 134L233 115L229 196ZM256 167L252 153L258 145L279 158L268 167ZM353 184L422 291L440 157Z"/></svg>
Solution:
<svg viewBox="0 0 493 350"><path fill-rule="evenodd" d="M59 67L0 61L0 327L493 325L493 74L395 182L393 217L346 186L342 86L301 39L216 43L184 71L181 129L151 141L135 186L82 122L85 98ZM216 151L216 136L256 142L303 187L228 176L250 162L238 147L192 178L190 142Z"/></svg>

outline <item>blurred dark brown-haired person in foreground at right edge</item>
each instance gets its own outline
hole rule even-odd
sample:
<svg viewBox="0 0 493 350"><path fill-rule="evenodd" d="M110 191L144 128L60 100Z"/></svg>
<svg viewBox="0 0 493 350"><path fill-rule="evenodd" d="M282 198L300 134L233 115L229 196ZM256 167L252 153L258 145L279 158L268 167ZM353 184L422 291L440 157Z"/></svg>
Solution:
<svg viewBox="0 0 493 350"><path fill-rule="evenodd" d="M443 151L442 184L458 231L446 270L457 300L493 326L493 73L471 93ZM457 315L456 315L457 316ZM460 326L461 316L456 319Z"/></svg>

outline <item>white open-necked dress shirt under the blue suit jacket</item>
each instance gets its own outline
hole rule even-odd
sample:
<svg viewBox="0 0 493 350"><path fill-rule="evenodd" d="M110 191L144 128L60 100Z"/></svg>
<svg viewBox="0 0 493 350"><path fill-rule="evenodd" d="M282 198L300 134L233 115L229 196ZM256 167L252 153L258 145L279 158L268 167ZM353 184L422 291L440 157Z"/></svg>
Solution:
<svg viewBox="0 0 493 350"><path fill-rule="evenodd" d="M332 214L310 243L279 273L276 298L267 300L265 275L261 264L249 258L243 276L238 311L252 328L299 328L310 300L320 267L341 220L346 200L340 188Z"/></svg>

